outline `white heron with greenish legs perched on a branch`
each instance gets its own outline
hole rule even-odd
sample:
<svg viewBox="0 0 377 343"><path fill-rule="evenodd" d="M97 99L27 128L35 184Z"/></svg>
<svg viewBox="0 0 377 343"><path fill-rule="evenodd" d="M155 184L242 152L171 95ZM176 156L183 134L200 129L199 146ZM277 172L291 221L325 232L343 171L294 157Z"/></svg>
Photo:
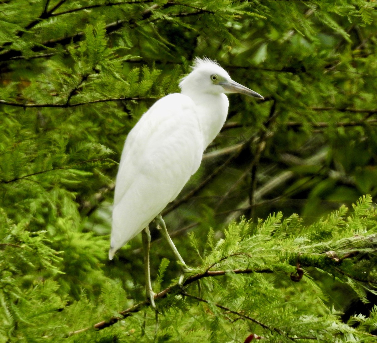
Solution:
<svg viewBox="0 0 377 343"><path fill-rule="evenodd" d="M148 224L156 218L162 235L185 269L186 264L167 232L161 211L198 170L205 148L220 132L229 107L224 93L264 99L233 81L218 63L207 58L195 59L191 73L181 80L179 87L181 93L158 100L130 131L115 183L109 259L142 232L146 293L153 307Z"/></svg>

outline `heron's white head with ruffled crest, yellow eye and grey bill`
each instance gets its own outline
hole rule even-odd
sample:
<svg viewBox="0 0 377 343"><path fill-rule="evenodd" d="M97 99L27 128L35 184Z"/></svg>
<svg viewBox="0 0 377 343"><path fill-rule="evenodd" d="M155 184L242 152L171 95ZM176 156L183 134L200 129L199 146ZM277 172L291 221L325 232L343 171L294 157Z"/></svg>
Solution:
<svg viewBox="0 0 377 343"><path fill-rule="evenodd" d="M264 99L260 94L233 81L218 63L208 58L196 58L192 72L179 83L182 94L222 94L241 93Z"/></svg>

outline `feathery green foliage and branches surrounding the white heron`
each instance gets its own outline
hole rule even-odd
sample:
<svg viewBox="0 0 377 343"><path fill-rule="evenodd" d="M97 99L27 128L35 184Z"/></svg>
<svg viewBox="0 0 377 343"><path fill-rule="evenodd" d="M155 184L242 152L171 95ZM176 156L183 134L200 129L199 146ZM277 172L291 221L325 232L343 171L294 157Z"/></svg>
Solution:
<svg viewBox="0 0 377 343"><path fill-rule="evenodd" d="M376 6L1 1L0 343L375 341ZM230 95L165 210L183 290L151 228L156 326L140 238L107 261L114 179L195 56L265 101Z"/></svg>

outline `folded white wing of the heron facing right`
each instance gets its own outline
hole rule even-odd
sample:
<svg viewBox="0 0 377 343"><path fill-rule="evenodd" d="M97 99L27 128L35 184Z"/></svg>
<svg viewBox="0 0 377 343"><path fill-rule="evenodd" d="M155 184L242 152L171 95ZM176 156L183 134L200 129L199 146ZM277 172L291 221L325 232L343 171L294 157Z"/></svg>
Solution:
<svg viewBox="0 0 377 343"><path fill-rule="evenodd" d="M144 113L127 136L116 176L110 259L176 198L203 150L188 96L170 94Z"/></svg>

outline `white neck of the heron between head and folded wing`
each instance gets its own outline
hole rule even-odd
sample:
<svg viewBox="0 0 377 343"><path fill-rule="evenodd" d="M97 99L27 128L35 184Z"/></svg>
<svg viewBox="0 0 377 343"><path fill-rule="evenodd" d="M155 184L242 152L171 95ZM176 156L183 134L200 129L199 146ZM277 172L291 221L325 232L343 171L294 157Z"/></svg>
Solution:
<svg viewBox="0 0 377 343"><path fill-rule="evenodd" d="M190 97L198 108L197 117L205 150L219 134L227 119L229 100L225 94L201 94L200 97Z"/></svg>

